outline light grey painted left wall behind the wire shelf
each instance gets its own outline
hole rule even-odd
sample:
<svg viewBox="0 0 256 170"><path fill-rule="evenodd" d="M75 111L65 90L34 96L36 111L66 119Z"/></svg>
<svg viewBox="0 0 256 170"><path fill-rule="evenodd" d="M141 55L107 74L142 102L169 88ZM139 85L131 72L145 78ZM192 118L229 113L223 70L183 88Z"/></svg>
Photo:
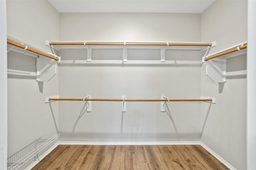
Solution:
<svg viewBox="0 0 256 170"><path fill-rule="evenodd" d="M47 39L58 40L59 14L48 1L7 1L7 34L50 51ZM35 138L49 138L58 131L58 103L45 103L58 95L58 73L49 82L36 82L36 58L8 52L8 154Z"/></svg>

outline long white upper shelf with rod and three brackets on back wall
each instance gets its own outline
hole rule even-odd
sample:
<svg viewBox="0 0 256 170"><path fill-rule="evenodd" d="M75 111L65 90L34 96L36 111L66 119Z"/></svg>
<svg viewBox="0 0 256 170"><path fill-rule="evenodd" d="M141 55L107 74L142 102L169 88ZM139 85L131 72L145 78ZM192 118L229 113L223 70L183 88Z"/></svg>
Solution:
<svg viewBox="0 0 256 170"><path fill-rule="evenodd" d="M54 49L87 49L87 62L92 61L92 49L123 49L123 62L127 62L127 49L160 49L161 62L165 62L166 49L204 51L216 42L106 42L106 41L53 41L46 45Z"/></svg>

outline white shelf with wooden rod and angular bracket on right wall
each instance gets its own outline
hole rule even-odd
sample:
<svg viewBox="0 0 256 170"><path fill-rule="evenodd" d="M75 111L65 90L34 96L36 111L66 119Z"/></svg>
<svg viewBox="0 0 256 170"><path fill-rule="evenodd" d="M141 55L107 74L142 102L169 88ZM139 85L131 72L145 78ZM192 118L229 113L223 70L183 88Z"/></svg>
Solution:
<svg viewBox="0 0 256 170"><path fill-rule="evenodd" d="M230 57L246 54L246 48L247 42L243 42L202 57L202 62L206 63L206 75L215 83L225 83L226 60Z"/></svg>

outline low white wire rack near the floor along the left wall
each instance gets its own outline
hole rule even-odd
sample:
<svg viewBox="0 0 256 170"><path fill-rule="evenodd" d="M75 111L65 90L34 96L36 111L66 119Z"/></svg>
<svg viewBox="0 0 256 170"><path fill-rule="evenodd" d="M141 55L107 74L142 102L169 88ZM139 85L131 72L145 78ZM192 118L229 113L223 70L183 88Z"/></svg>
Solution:
<svg viewBox="0 0 256 170"><path fill-rule="evenodd" d="M47 149L53 145L54 140L60 137L60 134L55 134L49 139L36 138L26 146L20 148L13 154L7 157L8 170L24 170L35 162Z"/></svg>

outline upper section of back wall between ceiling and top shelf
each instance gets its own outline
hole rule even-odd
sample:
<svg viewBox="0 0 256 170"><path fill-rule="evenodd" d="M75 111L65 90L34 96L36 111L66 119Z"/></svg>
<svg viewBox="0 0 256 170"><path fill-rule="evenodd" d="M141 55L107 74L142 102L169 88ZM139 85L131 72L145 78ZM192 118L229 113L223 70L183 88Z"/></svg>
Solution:
<svg viewBox="0 0 256 170"><path fill-rule="evenodd" d="M200 14L60 13L60 41L200 42Z"/></svg>

